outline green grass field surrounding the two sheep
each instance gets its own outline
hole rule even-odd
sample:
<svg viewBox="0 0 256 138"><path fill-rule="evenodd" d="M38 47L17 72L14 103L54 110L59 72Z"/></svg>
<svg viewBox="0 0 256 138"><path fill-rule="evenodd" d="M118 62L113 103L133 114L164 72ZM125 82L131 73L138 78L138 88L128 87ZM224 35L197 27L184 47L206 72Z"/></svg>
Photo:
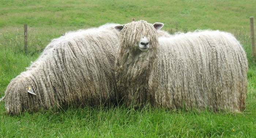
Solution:
<svg viewBox="0 0 256 138"><path fill-rule="evenodd" d="M256 138L256 65L252 63L249 17L255 0L1 0L0 97L10 80L25 71L53 38L62 33L125 24L161 22L174 33L219 29L233 33L248 62L248 93L243 113L172 111L133 107L69 107L53 113L7 115L0 102L0 137L252 137ZM23 51L23 24L28 25L28 53Z"/></svg>

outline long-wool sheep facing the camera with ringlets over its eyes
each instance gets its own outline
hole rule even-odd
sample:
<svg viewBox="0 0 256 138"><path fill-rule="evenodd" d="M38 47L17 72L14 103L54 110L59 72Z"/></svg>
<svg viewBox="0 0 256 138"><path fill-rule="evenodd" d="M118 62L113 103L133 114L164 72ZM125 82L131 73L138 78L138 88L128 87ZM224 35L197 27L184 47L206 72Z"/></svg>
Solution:
<svg viewBox="0 0 256 138"><path fill-rule="evenodd" d="M117 91L127 106L240 112L245 108L245 51L227 32L158 37L162 23L115 27Z"/></svg>

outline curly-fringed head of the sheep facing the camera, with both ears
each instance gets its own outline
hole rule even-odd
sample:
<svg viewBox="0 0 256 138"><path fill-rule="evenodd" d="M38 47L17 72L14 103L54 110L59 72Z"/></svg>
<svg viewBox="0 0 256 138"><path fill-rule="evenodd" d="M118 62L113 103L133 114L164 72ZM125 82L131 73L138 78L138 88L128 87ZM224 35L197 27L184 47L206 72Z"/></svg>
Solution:
<svg viewBox="0 0 256 138"><path fill-rule="evenodd" d="M140 20L126 25L118 25L115 29L120 31L119 44L122 47L125 46L129 51L138 49L147 51L148 49L157 49L157 30L162 27L162 23L150 24L147 21Z"/></svg>

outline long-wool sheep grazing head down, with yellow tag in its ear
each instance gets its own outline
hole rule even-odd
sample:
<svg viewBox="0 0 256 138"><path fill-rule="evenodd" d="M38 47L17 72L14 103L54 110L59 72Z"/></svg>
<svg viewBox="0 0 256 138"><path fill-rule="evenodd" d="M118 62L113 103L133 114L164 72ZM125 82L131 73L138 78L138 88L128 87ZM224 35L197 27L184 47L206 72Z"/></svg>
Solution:
<svg viewBox="0 0 256 138"><path fill-rule="evenodd" d="M7 113L117 102L113 70L116 25L69 32L52 40L7 86Z"/></svg>

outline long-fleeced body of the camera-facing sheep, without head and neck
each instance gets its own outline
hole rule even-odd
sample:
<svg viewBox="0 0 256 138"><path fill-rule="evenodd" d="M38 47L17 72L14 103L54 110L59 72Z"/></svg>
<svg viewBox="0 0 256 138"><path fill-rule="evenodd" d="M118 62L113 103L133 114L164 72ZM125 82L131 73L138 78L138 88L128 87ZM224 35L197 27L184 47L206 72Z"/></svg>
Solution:
<svg viewBox="0 0 256 138"><path fill-rule="evenodd" d="M149 83L158 104L171 109L244 109L247 59L231 34L200 31L160 37L159 43Z"/></svg>

